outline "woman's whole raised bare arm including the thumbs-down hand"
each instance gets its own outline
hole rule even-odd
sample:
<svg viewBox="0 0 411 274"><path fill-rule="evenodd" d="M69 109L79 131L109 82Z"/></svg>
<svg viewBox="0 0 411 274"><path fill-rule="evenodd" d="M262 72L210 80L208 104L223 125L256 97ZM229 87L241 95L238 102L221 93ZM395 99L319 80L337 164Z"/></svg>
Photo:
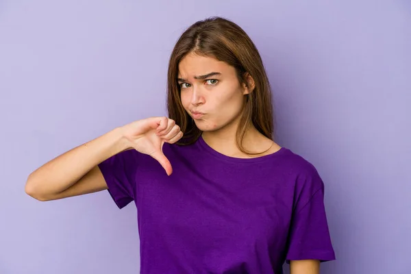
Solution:
<svg viewBox="0 0 411 274"><path fill-rule="evenodd" d="M164 142L173 144L183 133L167 117L134 121L59 155L27 178L25 192L40 201L62 199L107 189L98 164L127 149L136 149L157 160L170 175Z"/></svg>

